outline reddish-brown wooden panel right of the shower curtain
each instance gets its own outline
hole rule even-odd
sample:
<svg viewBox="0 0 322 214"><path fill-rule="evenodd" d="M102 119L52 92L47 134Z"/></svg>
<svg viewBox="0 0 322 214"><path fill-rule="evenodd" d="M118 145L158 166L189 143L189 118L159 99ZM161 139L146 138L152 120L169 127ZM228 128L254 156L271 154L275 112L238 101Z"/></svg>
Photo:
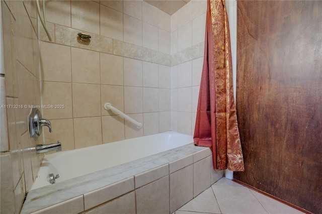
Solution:
<svg viewBox="0 0 322 214"><path fill-rule="evenodd" d="M237 1L234 178L322 213L322 1Z"/></svg>

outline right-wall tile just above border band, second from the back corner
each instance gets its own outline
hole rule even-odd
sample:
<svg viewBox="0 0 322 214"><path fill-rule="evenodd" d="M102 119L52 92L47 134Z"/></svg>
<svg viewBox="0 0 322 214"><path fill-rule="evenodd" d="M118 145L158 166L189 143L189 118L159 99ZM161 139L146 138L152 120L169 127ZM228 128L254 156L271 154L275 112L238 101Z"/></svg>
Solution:
<svg viewBox="0 0 322 214"><path fill-rule="evenodd" d="M178 51L185 50L192 46L192 22L178 29Z"/></svg>

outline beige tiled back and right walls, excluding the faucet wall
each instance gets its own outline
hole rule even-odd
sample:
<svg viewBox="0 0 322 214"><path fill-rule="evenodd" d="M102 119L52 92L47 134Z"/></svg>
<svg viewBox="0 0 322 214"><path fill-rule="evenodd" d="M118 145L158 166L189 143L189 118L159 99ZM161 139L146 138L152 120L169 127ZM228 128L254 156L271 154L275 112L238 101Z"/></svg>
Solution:
<svg viewBox="0 0 322 214"><path fill-rule="evenodd" d="M63 150L178 131L192 134L203 62L205 1L170 16L143 1L48 1L40 29L42 103ZM89 43L77 33L92 36ZM110 102L143 124L138 130ZM59 136L54 133L59 133Z"/></svg>

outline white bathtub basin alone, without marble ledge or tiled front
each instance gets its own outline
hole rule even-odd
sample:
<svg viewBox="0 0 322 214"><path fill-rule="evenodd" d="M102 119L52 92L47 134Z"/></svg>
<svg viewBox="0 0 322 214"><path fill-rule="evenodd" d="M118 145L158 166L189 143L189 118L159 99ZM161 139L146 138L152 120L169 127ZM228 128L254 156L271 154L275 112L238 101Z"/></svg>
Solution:
<svg viewBox="0 0 322 214"><path fill-rule="evenodd" d="M164 132L45 155L31 189L51 185L48 181L50 173L59 174L59 178L56 179L58 183L189 143L193 143L193 137L190 135Z"/></svg>

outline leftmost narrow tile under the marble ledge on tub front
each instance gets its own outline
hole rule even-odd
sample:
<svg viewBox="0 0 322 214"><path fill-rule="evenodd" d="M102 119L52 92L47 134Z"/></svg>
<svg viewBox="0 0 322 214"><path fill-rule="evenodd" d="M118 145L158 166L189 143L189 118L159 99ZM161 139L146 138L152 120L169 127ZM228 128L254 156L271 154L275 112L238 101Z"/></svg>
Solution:
<svg viewBox="0 0 322 214"><path fill-rule="evenodd" d="M64 202L40 209L33 214L46 214L46 213L79 213L84 211L83 195L71 198Z"/></svg>

